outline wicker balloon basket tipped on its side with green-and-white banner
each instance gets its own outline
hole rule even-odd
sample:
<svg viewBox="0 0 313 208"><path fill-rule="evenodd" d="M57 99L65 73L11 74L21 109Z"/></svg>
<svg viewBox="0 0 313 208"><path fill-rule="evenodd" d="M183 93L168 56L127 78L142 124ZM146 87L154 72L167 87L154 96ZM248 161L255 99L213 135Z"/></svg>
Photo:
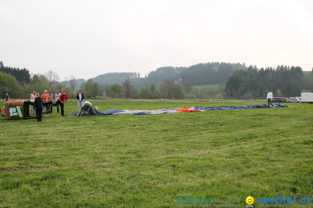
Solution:
<svg viewBox="0 0 313 208"><path fill-rule="evenodd" d="M4 106L7 121L36 118L29 116L29 101L27 100L8 101L4 103Z"/></svg>

